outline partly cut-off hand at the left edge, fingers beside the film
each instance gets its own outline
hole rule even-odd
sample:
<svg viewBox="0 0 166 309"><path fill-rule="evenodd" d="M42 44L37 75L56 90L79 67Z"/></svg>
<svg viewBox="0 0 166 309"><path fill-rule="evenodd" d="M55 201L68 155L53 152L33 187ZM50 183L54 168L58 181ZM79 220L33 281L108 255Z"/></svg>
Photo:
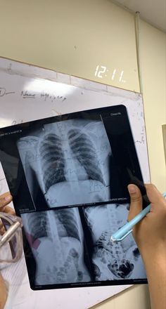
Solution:
<svg viewBox="0 0 166 309"><path fill-rule="evenodd" d="M10 192L6 192L3 195L0 195L0 211L10 214L15 214L15 211L8 206L8 204L12 201L12 196ZM0 232L1 232L1 225L0 225ZM6 303L6 299L8 296L8 291L6 288L6 284L4 282L3 277L0 274L0 309L4 308Z"/></svg>

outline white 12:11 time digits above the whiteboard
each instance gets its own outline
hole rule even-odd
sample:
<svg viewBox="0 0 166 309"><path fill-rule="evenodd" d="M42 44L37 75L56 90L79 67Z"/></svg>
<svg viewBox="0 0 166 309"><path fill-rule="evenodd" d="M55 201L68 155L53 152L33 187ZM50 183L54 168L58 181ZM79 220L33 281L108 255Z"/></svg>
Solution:
<svg viewBox="0 0 166 309"><path fill-rule="evenodd" d="M108 68L104 65L97 65L96 70L94 72L94 76L98 77L99 79L103 79L104 77L109 77L110 79L114 80L117 79L121 83L126 83L126 80L123 79L124 77L124 70L108 70Z"/></svg>

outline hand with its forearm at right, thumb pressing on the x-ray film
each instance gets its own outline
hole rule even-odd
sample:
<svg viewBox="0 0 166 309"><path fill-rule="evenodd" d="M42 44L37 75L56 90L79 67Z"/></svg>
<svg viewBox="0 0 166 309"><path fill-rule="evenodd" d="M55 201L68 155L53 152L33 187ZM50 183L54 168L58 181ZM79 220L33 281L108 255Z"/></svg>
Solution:
<svg viewBox="0 0 166 309"><path fill-rule="evenodd" d="M142 210L141 192L128 186L131 204L128 221ZM152 309L166 308L166 199L154 185L146 185L151 211L133 228L133 236L146 267Z"/></svg>

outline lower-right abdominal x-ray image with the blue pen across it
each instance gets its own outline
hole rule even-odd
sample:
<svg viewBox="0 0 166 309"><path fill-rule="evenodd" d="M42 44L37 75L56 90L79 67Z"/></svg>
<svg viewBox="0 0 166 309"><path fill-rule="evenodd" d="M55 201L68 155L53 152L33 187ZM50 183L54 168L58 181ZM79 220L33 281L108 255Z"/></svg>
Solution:
<svg viewBox="0 0 166 309"><path fill-rule="evenodd" d="M132 235L112 242L110 235L127 221L127 205L107 204L84 208L91 232L95 281L146 278L141 256Z"/></svg>

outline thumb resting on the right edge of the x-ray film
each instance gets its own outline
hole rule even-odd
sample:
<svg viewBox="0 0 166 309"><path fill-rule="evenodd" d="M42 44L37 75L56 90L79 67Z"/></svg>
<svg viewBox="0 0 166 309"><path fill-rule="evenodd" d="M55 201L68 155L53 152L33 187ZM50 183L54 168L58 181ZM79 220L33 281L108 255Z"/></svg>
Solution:
<svg viewBox="0 0 166 309"><path fill-rule="evenodd" d="M136 185L128 185L130 195L130 207L128 221L132 220L140 211L142 211L142 195L141 191Z"/></svg>

